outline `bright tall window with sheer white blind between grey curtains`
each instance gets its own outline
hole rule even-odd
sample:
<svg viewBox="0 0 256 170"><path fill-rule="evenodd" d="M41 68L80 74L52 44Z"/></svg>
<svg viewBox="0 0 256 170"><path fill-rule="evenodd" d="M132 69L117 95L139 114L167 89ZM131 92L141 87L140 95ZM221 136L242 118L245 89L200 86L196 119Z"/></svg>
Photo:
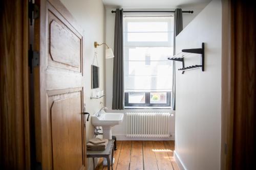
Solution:
<svg viewBox="0 0 256 170"><path fill-rule="evenodd" d="M173 16L124 16L124 106L170 107Z"/></svg>

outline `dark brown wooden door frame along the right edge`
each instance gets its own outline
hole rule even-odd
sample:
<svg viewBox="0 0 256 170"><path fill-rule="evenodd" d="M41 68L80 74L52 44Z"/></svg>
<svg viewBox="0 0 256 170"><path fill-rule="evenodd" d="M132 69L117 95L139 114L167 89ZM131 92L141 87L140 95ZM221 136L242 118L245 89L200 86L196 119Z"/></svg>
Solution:
<svg viewBox="0 0 256 170"><path fill-rule="evenodd" d="M222 0L221 169L255 169L256 12Z"/></svg>

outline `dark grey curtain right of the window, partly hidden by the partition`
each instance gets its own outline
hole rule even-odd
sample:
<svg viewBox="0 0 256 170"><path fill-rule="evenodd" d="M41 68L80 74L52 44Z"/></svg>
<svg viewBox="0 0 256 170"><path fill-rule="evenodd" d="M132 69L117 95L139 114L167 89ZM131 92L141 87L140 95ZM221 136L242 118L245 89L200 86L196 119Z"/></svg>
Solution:
<svg viewBox="0 0 256 170"><path fill-rule="evenodd" d="M183 30L182 24L182 10L180 8L175 9L174 13L174 55L175 52L175 38ZM172 91L172 109L176 110L176 74L175 74L175 61L173 61L173 91Z"/></svg>

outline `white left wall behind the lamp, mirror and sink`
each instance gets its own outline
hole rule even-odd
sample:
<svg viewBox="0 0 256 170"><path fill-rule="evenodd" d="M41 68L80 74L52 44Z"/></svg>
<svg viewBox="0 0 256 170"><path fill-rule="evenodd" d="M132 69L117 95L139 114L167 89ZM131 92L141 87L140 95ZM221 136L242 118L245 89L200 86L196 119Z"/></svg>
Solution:
<svg viewBox="0 0 256 170"><path fill-rule="evenodd" d="M77 20L78 24L84 31L84 43L85 43L85 67L86 67L86 111L93 114L104 106L104 98L101 99L90 99L92 94L91 89L91 64L94 56L94 41L99 43L104 42L105 39L105 29L104 29L104 14L105 9L101 0L61 0L61 2L66 6L66 8L71 12L74 18ZM100 67L99 73L99 89L105 89L105 60L104 60L104 46L98 47L98 63ZM102 104L101 104L102 102ZM87 141L94 137L94 127L91 124L91 118L89 122L86 123L86 138ZM92 159L88 159L88 169L93 169Z"/></svg>

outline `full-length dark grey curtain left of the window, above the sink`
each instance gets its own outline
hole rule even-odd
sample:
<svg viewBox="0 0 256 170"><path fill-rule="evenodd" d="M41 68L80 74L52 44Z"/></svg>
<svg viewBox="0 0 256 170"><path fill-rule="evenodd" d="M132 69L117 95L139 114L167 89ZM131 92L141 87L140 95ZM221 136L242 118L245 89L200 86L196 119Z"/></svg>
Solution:
<svg viewBox="0 0 256 170"><path fill-rule="evenodd" d="M112 109L123 110L123 9L116 9Z"/></svg>

